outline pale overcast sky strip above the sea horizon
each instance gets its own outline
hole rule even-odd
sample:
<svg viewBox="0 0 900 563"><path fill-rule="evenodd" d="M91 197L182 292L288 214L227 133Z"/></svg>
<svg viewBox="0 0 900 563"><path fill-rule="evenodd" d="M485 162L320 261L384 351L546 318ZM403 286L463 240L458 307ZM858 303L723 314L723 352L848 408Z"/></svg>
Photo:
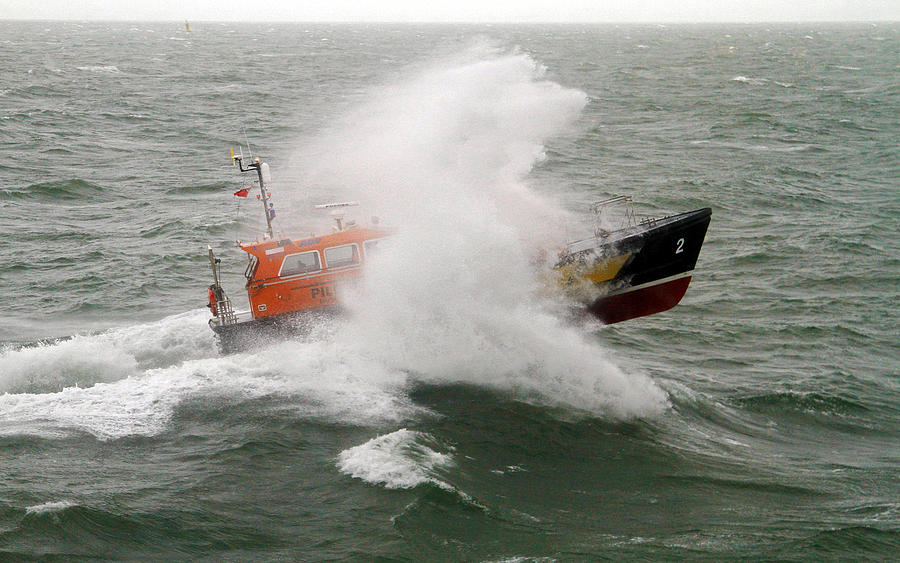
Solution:
<svg viewBox="0 0 900 563"><path fill-rule="evenodd" d="M900 0L0 0L0 7L0 19L195 22L900 20Z"/></svg>

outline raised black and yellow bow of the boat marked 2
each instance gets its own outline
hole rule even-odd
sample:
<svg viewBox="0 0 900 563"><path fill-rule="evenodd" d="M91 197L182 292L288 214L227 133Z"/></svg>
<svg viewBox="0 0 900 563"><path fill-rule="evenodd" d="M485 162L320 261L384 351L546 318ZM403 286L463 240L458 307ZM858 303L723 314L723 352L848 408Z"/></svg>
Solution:
<svg viewBox="0 0 900 563"><path fill-rule="evenodd" d="M605 324L677 305L691 283L712 210L638 219L631 197L617 196L591 211L593 236L559 252L557 287Z"/></svg>

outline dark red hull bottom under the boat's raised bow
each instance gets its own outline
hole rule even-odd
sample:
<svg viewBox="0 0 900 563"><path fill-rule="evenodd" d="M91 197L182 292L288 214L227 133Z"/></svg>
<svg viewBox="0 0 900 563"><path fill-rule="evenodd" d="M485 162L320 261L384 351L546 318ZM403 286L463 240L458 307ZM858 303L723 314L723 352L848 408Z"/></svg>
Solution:
<svg viewBox="0 0 900 563"><path fill-rule="evenodd" d="M638 287L624 293L601 297L588 310L606 324L666 311L678 305L687 292L691 276L656 285Z"/></svg>

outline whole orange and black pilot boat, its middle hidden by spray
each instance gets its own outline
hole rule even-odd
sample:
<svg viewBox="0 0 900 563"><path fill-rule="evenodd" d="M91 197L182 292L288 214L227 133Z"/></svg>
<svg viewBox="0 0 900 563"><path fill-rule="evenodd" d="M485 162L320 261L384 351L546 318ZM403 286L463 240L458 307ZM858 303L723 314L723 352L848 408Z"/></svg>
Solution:
<svg viewBox="0 0 900 563"><path fill-rule="evenodd" d="M357 202L317 205L335 219L331 233L301 238L275 237L274 209L266 184L269 166L258 158L232 159L241 172L255 172L266 233L262 240L240 242L247 253L244 272L248 311L235 312L221 284L221 261L208 248L213 283L207 306L210 328L225 352L240 350L260 338L302 334L318 319L341 309L340 295L363 273L368 256L391 232L379 226L361 227L344 221L346 207ZM235 192L246 197L247 189ZM550 287L562 292L581 311L606 324L671 309L684 297L709 227L711 210L697 209L663 218L638 219L628 196L591 206L597 226L592 236L559 250L549 268ZM610 221L611 216L618 219Z"/></svg>

